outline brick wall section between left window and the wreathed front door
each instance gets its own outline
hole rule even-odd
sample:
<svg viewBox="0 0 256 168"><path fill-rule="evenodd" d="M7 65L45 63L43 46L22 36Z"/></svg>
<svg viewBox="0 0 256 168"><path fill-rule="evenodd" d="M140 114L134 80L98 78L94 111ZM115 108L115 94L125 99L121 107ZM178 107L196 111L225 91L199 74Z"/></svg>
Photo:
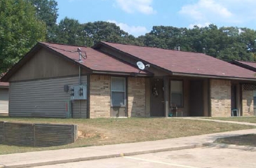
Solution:
<svg viewBox="0 0 256 168"><path fill-rule="evenodd" d="M145 78L128 78L128 117L149 117L146 113Z"/></svg>

